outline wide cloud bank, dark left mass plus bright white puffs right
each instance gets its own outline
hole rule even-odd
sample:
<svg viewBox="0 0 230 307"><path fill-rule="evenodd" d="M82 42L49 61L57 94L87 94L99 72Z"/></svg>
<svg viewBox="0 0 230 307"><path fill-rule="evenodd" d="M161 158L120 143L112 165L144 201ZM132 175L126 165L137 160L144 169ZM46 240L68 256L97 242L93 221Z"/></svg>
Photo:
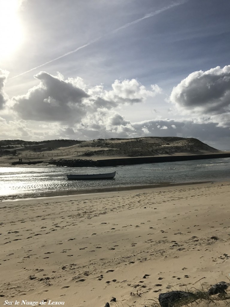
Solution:
<svg viewBox="0 0 230 307"><path fill-rule="evenodd" d="M79 77L64 80L60 73L52 76L40 72L34 77L40 84L25 95L13 97L13 110L21 119L69 126L85 122L98 125L103 116L111 116L110 111L114 114L119 104L142 103L161 92L158 85L147 90L136 79L115 80L112 90L106 91L102 85L88 88Z"/></svg>

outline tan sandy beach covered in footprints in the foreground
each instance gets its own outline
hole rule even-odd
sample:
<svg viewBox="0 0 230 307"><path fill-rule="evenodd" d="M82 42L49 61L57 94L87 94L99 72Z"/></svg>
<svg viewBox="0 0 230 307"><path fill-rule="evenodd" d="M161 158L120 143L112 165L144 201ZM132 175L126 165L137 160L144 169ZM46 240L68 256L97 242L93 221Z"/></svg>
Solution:
<svg viewBox="0 0 230 307"><path fill-rule="evenodd" d="M143 306L229 282L229 199L210 182L2 201L0 306Z"/></svg>

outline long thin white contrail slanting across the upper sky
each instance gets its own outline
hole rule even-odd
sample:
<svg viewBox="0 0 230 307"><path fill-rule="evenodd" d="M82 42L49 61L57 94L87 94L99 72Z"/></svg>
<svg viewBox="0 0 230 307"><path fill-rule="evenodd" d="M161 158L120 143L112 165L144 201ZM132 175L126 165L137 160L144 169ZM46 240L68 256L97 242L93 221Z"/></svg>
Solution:
<svg viewBox="0 0 230 307"><path fill-rule="evenodd" d="M80 47L78 47L78 48L76 48L76 49L74 49L74 50L72 50L72 51L66 52L66 53L64 53L63 55L56 57L55 59L52 59L52 60L50 60L50 61L48 61L48 62L45 62L45 63L43 63L43 64L41 64L41 65L39 65L39 66L36 66L36 67L34 67L34 68L31 68L31 69L27 70L26 72L22 72L21 74L19 74L19 75L17 75L17 76L14 76L14 77L11 77L11 78L9 78L9 79L14 79L14 78L17 78L17 77L19 77L19 76L23 76L23 75L25 75L27 72L32 72L33 70L35 70L35 69L37 69L37 68L40 68L40 67L45 66L45 65L47 65L47 64L50 64L50 63L52 63L52 62L54 62L54 61L56 61L56 60L59 60L59 59L65 57L65 56L68 56L69 54L75 53L75 52L79 51L80 49L83 49L83 48L85 48L85 47L88 47L88 46L92 45L93 43L95 43L95 42L101 40L102 38L104 38L104 37L106 37L106 36L108 36L108 35L110 35L110 34L112 34L112 33L116 33L116 32L118 32L118 31L120 31L120 30L122 30L122 29L128 28L128 27L130 27L131 25L134 25L134 24L136 24L136 23L138 23L138 22L140 22L140 21L142 21L142 20L144 20L144 19L147 19L147 18L153 17L153 16L155 16L155 15L158 15L158 14L160 14L160 13L166 11L166 10L171 9L171 8L174 7L174 6L178 6L178 5L184 4L184 3L186 3L187 1L189 1L189 0L182 0L182 1L180 1L180 2L174 2L173 4L171 4L171 5L169 5L169 6L165 6L165 7L163 7L163 8L160 9L160 10L157 10L157 11L155 11L155 12L149 13L149 14L145 15L144 17L141 17L141 18L136 19L136 20L134 20L134 21L128 22L128 23L126 23L125 25L122 25L121 27L119 27L119 28L117 28L117 29L115 29L115 30L113 30L113 31L111 31L111 32L109 32L109 33L103 35L103 36L97 37L97 38L95 38L94 40L89 41L89 42L88 42L87 44L85 44L85 45L82 45L82 46L80 46Z"/></svg>

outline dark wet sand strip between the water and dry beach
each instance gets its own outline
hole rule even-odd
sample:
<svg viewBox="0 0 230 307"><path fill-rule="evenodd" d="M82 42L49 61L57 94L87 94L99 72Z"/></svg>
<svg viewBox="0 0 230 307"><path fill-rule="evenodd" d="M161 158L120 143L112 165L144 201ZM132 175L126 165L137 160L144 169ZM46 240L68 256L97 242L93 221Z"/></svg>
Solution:
<svg viewBox="0 0 230 307"><path fill-rule="evenodd" d="M0 196L0 202L4 201L17 201L17 200L28 200L28 199L44 199L44 198L52 198L52 197L65 197L65 196L77 196L77 195L88 195L88 194L101 194L101 193L109 193L109 192L121 192L121 191L133 191L133 190L143 190L143 189L154 189L154 188L167 188L167 187L174 187L174 186L183 186L183 185L201 185L206 183L222 183L227 182L225 181L193 181L193 182L177 182L177 183L156 183L150 185L131 185L131 186L119 186L119 187L112 187L112 188L97 188L97 189L90 189L90 190L65 190L65 191L55 191L55 192L44 192L42 196L37 196L36 194L22 194L16 196ZM30 197L29 197L30 196ZM0 207L1 208L1 207Z"/></svg>

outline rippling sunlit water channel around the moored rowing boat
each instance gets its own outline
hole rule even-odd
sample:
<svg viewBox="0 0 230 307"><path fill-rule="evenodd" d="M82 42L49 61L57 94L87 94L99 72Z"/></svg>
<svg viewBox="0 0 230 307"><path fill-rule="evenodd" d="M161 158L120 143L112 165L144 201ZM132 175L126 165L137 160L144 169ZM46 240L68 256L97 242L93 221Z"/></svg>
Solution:
<svg viewBox="0 0 230 307"><path fill-rule="evenodd" d="M110 173L110 180L67 180L66 174ZM230 158L121 165L116 167L0 167L0 199L106 191L133 186L228 181Z"/></svg>

